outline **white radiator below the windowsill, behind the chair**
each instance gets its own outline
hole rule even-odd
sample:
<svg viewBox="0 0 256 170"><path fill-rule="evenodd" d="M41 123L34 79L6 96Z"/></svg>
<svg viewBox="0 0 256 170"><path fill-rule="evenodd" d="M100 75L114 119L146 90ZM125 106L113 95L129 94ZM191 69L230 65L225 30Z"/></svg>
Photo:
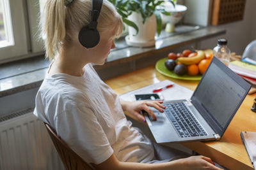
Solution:
<svg viewBox="0 0 256 170"><path fill-rule="evenodd" d="M0 169L65 169L33 108L0 118Z"/></svg>

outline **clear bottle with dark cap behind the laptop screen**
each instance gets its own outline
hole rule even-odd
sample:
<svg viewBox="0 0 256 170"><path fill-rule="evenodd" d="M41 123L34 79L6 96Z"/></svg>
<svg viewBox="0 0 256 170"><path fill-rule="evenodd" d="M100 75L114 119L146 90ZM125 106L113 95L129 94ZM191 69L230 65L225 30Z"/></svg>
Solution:
<svg viewBox="0 0 256 170"><path fill-rule="evenodd" d="M230 62L230 50L227 39L218 39L218 45L213 48L213 55L228 66Z"/></svg>

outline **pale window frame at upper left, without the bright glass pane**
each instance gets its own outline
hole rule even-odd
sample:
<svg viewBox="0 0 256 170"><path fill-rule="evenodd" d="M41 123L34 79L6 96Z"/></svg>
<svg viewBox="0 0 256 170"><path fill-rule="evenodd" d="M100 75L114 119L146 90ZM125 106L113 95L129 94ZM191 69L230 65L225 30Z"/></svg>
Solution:
<svg viewBox="0 0 256 170"><path fill-rule="evenodd" d="M0 64L44 54L44 43L38 36L40 0L0 0L10 4L13 44L0 47Z"/></svg>

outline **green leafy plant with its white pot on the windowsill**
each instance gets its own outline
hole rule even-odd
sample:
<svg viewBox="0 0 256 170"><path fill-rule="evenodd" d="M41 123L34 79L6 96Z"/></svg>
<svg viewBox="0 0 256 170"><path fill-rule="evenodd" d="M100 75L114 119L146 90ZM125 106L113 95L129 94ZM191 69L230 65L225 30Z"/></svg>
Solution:
<svg viewBox="0 0 256 170"><path fill-rule="evenodd" d="M128 45L154 46L155 35L161 34L163 15L170 15L164 8L157 8L165 1L157 0L109 0L128 25L129 35L125 37ZM176 0L168 0L175 6Z"/></svg>

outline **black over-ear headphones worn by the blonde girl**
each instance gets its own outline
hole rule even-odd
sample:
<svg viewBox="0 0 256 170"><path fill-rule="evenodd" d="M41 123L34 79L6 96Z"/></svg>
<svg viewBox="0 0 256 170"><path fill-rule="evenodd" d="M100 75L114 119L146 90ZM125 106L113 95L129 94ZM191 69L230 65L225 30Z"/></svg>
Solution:
<svg viewBox="0 0 256 170"><path fill-rule="evenodd" d="M83 27L78 34L79 42L86 48L92 48L100 41L100 34L97 31L97 20L100 15L102 3L103 0L92 0L92 10L90 10L92 19L90 24Z"/></svg>

